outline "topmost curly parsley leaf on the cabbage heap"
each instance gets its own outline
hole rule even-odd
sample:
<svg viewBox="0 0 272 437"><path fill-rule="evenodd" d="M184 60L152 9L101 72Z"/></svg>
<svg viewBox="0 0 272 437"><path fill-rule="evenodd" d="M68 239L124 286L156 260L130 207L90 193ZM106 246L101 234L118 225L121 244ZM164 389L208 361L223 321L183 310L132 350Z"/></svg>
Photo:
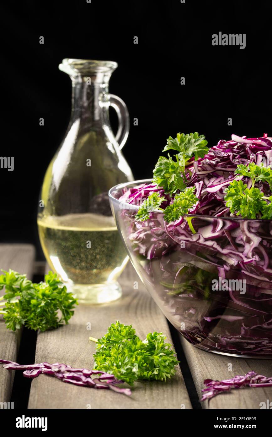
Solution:
<svg viewBox="0 0 272 437"><path fill-rule="evenodd" d="M204 135L198 135L198 132L190 134L177 133L177 137L174 139L169 137L167 139L167 145L164 147L163 152L167 150L177 150L182 153L183 158L190 158L193 154L195 160L198 160L200 156L203 158L208 151L207 140Z"/></svg>

